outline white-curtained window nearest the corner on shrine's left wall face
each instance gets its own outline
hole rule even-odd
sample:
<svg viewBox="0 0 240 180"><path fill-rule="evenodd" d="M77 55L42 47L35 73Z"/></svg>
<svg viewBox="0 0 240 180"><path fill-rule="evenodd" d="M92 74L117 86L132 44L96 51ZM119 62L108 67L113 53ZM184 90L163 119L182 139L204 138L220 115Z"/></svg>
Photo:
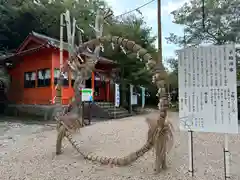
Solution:
<svg viewBox="0 0 240 180"><path fill-rule="evenodd" d="M48 87L51 85L51 71L50 69L40 69L38 70L38 87Z"/></svg>

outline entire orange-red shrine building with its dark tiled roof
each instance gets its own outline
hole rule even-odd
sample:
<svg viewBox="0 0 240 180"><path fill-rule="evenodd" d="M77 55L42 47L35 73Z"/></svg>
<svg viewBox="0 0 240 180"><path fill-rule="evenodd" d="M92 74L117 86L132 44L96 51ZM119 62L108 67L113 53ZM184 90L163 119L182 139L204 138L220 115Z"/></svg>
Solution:
<svg viewBox="0 0 240 180"><path fill-rule="evenodd" d="M16 53L5 58L10 75L7 98L10 103L51 105L56 95L59 77L60 41L32 32L18 47ZM68 59L68 44L63 44L63 62ZM114 79L118 76L117 64L100 57L96 70L86 81L92 88L94 101L114 101ZM62 88L62 103L68 104L74 96L74 77L66 73Z"/></svg>

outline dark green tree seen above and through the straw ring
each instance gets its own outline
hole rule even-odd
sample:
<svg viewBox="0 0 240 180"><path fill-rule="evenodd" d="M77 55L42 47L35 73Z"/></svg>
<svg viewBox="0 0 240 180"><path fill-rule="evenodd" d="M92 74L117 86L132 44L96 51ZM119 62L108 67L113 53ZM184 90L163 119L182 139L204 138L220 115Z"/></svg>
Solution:
<svg viewBox="0 0 240 180"><path fill-rule="evenodd" d="M145 25L142 18L130 15L121 20L114 21L114 24L106 29L106 33L135 41L137 44L147 49L150 53L156 52L153 44L156 37L150 35L151 28ZM111 48L111 46L108 48ZM134 56L136 55L134 54L125 55L120 47L115 47L114 51L107 49L106 56L111 56L112 59L115 59L121 64L122 70L124 70L123 77L131 79L131 83L133 84L141 84L139 82L139 77L149 76L148 71L144 68L145 63L140 59L135 58ZM140 79L141 82L142 80L143 78ZM142 83L145 84L146 82L144 81Z"/></svg>

